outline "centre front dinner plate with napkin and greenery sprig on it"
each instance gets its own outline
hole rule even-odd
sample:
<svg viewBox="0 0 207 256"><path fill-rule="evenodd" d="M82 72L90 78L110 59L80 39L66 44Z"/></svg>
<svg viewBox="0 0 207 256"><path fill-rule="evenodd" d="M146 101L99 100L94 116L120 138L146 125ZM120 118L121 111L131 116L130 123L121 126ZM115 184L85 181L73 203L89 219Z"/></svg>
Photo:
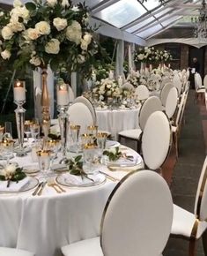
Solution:
<svg viewBox="0 0 207 256"><path fill-rule="evenodd" d="M79 180L81 180L81 177L77 177L74 175L67 175L67 174L63 174L63 175L59 175L55 178L56 182L58 184L62 184L65 186L69 186L69 187L78 187L78 188L85 188L85 187L92 187L92 186L96 186L96 185L100 185L105 183L106 181L106 176L103 174L97 174L97 175L89 175L90 178L94 178L94 182L92 182L92 180L89 180L87 178L84 177L84 179L82 181L80 181L80 183L77 183L77 178L79 178Z"/></svg>

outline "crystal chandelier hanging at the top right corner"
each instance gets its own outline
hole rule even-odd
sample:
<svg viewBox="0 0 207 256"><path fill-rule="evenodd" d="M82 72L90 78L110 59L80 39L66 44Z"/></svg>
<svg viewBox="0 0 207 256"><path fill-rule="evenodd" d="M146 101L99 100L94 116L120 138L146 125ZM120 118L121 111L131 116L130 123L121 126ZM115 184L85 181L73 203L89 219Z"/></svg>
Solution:
<svg viewBox="0 0 207 256"><path fill-rule="evenodd" d="M191 18L194 23L194 36L199 39L207 38L207 10L205 0L202 1L202 7L199 10L199 16Z"/></svg>

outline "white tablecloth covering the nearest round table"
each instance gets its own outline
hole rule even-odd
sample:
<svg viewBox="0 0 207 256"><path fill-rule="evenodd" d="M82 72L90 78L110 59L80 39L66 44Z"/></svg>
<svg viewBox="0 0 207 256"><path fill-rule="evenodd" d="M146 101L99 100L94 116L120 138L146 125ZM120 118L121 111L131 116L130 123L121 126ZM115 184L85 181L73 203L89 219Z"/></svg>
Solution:
<svg viewBox="0 0 207 256"><path fill-rule="evenodd" d="M30 154L13 161L19 166L37 164ZM143 168L142 159L138 167ZM119 179L128 173L127 169L110 171L104 165L99 169ZM0 192L0 246L25 249L36 256L59 256L63 245L98 236L101 215L115 184L106 179L104 184L87 188L62 185L66 192L60 194L46 185L41 196L32 196L34 188L28 192Z"/></svg>

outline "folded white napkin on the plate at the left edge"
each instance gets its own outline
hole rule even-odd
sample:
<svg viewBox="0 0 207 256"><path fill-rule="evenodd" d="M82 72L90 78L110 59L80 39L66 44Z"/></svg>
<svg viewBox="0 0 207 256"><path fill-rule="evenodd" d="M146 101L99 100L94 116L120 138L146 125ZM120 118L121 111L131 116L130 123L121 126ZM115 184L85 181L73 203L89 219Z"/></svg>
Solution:
<svg viewBox="0 0 207 256"><path fill-rule="evenodd" d="M19 180L18 183L11 181L9 187L7 187L7 181L0 181L0 192L20 192L29 181L30 177L25 177Z"/></svg>

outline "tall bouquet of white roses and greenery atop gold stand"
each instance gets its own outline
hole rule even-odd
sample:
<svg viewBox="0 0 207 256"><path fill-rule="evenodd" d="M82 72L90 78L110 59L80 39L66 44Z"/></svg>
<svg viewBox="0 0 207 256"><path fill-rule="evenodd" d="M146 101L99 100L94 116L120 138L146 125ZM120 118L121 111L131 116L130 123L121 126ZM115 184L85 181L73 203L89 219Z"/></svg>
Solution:
<svg viewBox="0 0 207 256"><path fill-rule="evenodd" d="M1 57L18 69L30 65L69 72L90 66L97 43L88 25L85 4L70 0L14 0L10 12L0 12Z"/></svg>

